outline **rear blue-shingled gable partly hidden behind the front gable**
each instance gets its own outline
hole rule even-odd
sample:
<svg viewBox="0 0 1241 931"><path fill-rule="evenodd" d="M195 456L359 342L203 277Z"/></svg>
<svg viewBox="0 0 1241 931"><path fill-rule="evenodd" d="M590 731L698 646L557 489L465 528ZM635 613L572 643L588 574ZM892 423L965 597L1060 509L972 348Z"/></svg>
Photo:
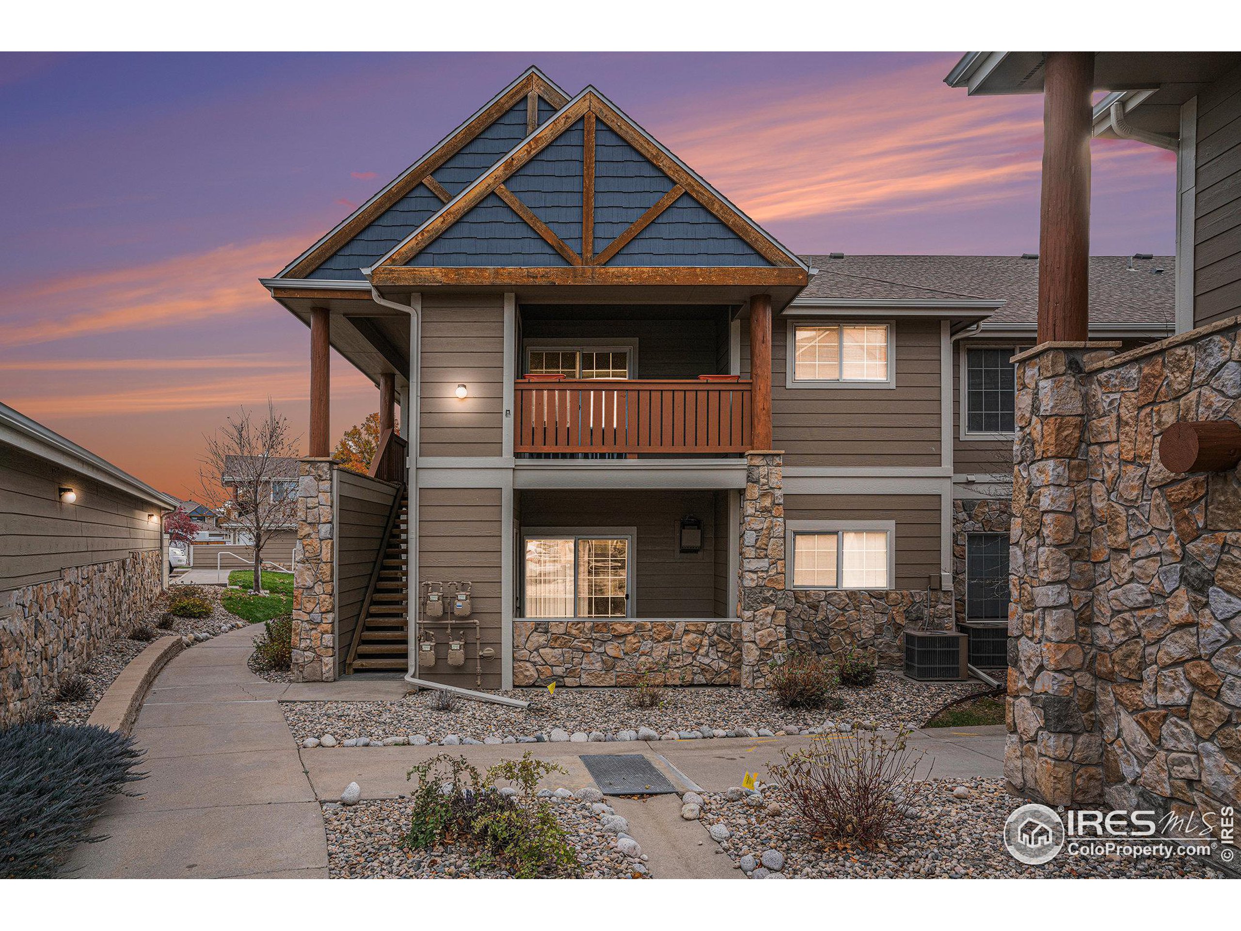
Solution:
<svg viewBox="0 0 1241 931"><path fill-rule="evenodd" d="M530 67L276 278L365 281L374 264L565 104Z"/></svg>

